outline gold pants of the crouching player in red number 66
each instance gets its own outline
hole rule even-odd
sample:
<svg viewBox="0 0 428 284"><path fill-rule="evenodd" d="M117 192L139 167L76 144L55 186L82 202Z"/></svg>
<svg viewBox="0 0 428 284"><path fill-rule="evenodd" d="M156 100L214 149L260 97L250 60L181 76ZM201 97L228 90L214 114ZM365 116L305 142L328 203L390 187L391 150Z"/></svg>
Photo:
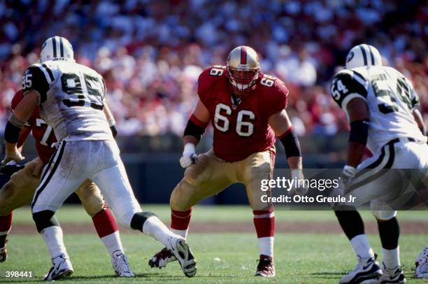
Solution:
<svg viewBox="0 0 428 284"><path fill-rule="evenodd" d="M262 180L272 176L275 148L256 152L237 162L216 157L213 150L198 156L197 164L185 170L184 178L171 194L171 208L187 211L206 197L211 197L231 184L243 183L252 210L269 210L271 204L261 201Z"/></svg>

